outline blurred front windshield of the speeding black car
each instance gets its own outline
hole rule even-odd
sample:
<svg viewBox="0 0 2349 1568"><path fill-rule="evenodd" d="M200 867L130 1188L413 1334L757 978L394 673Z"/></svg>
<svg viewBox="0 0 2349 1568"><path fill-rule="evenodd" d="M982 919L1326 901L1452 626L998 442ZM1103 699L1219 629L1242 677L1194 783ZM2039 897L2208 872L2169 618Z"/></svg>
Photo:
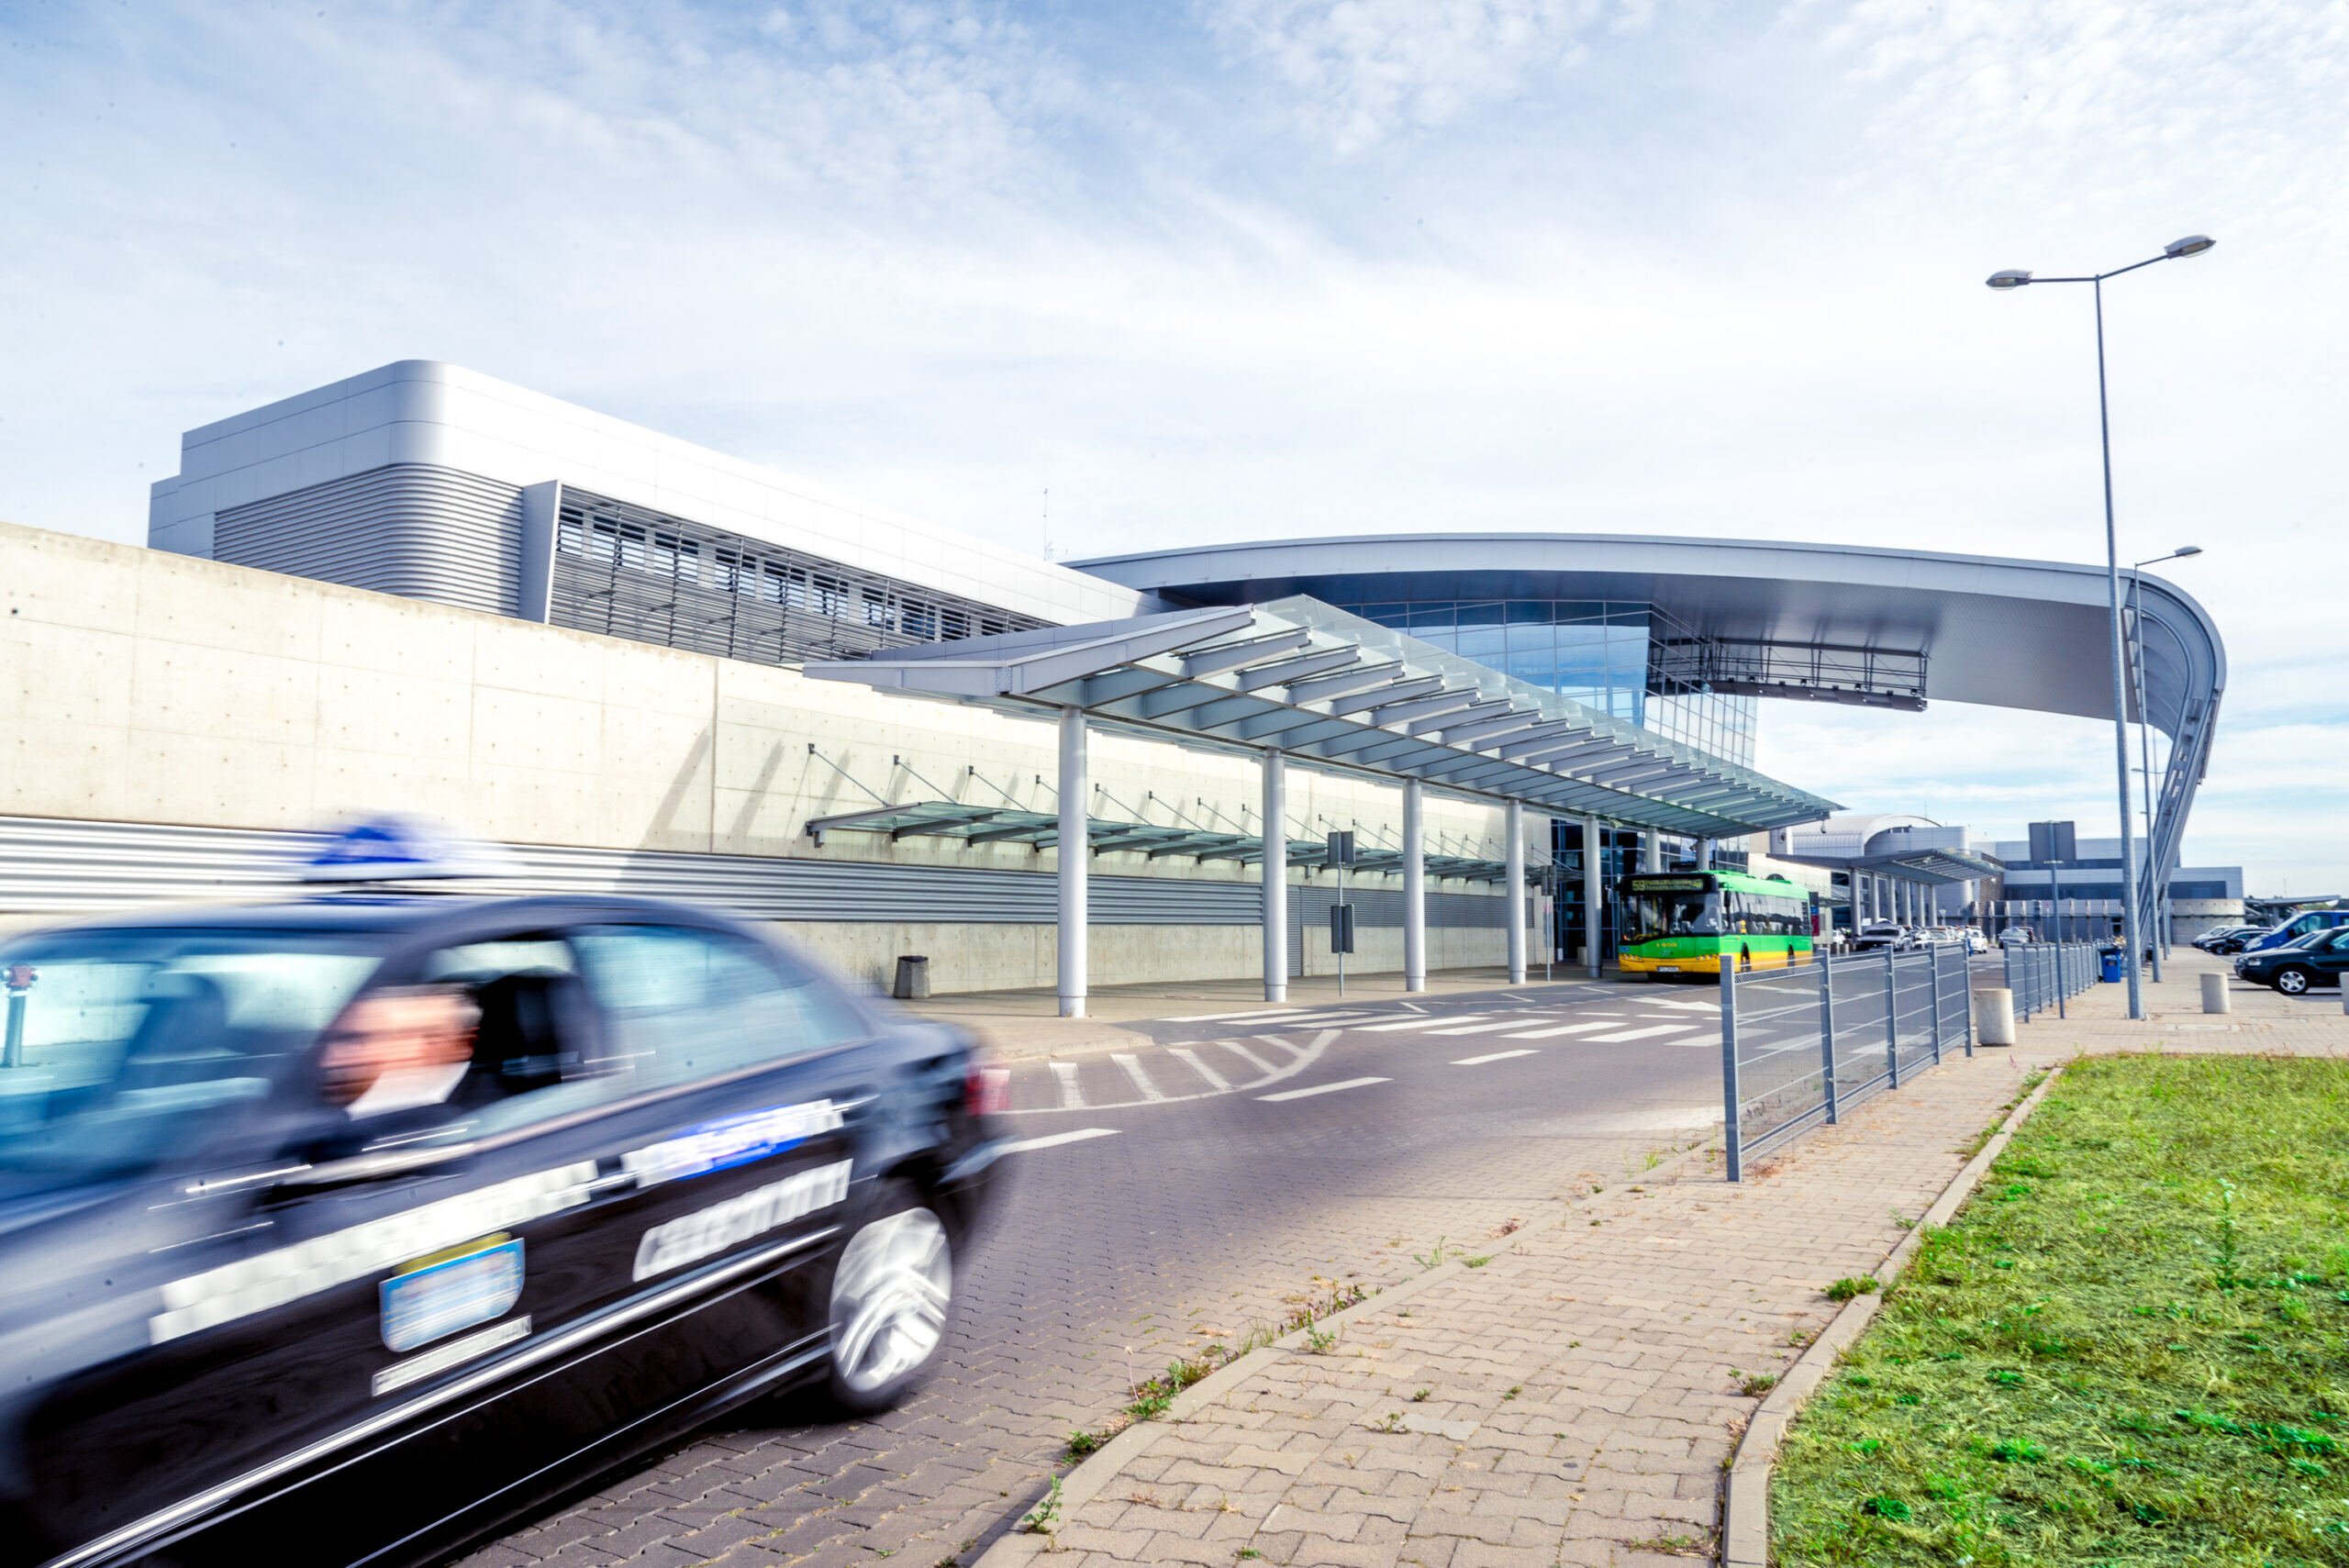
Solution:
<svg viewBox="0 0 2349 1568"><path fill-rule="evenodd" d="M223 1113L308 1103L310 1042L366 934L80 930L0 951L0 1171L63 1188L193 1153Z"/></svg>

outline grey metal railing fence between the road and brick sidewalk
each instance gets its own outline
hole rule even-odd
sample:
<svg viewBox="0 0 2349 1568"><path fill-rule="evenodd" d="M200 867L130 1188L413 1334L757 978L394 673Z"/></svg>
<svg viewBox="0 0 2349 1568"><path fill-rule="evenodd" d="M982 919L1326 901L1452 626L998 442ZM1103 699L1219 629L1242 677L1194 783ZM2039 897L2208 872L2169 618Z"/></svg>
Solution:
<svg viewBox="0 0 2349 1568"><path fill-rule="evenodd" d="M1954 941L1722 969L1722 1127L1729 1181L1755 1155L1842 1120L1952 1052L1973 1056L1973 965ZM2098 979L2088 944L2006 951L2015 1016L2062 1007ZM2030 1007L2030 1012L2025 1012Z"/></svg>

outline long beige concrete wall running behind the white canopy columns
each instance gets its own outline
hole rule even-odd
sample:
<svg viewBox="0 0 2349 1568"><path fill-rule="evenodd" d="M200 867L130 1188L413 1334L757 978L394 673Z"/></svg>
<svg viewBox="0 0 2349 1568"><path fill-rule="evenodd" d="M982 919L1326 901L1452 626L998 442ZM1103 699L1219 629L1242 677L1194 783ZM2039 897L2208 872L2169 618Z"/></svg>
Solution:
<svg viewBox="0 0 2349 1568"><path fill-rule="evenodd" d="M1027 845L806 836L810 817L871 807L867 789L1055 810L1045 718L5 523L0 603L0 815L315 829L397 807L531 845L1055 869L1055 852ZM1090 751L1102 817L1257 831L1250 756L1106 732ZM1292 765L1287 789L1292 833L1360 826L1365 843L1400 843L1395 786ZM1546 824L1529 836L1546 843ZM1431 793L1440 845L1499 857L1501 810ZM1139 852L1092 864L1254 880L1252 866ZM1438 878L1428 890L1487 892ZM1050 925L801 934L874 976L926 951L942 991L1052 976ZM1400 934L1391 962L1374 946L1388 934L1362 937L1362 967L1400 967ZM1092 955L1092 984L1245 976L1259 934L1095 927ZM1431 932L1431 958L1501 962L1503 932Z"/></svg>

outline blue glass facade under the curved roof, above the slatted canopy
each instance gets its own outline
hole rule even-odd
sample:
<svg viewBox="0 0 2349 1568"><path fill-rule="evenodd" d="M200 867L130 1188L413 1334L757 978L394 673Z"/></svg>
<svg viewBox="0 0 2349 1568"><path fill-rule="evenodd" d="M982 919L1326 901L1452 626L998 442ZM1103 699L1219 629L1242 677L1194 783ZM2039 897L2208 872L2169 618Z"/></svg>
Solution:
<svg viewBox="0 0 2349 1568"><path fill-rule="evenodd" d="M1651 674L1656 636L1694 631L1644 603L1590 599L1414 599L1407 603L1330 603L1381 627L1409 631L1463 660L1546 685L1583 707L1611 714L1698 751L1752 765L1755 699L1670 690Z"/></svg>

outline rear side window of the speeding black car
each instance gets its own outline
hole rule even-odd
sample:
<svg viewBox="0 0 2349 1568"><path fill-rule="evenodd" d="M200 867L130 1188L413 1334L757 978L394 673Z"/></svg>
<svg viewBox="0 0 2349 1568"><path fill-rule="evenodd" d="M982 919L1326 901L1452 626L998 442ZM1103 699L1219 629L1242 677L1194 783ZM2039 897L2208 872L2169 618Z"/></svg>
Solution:
<svg viewBox="0 0 2349 1568"><path fill-rule="evenodd" d="M571 932L608 1052L639 1087L782 1061L867 1033L815 972L726 932L592 925Z"/></svg>

